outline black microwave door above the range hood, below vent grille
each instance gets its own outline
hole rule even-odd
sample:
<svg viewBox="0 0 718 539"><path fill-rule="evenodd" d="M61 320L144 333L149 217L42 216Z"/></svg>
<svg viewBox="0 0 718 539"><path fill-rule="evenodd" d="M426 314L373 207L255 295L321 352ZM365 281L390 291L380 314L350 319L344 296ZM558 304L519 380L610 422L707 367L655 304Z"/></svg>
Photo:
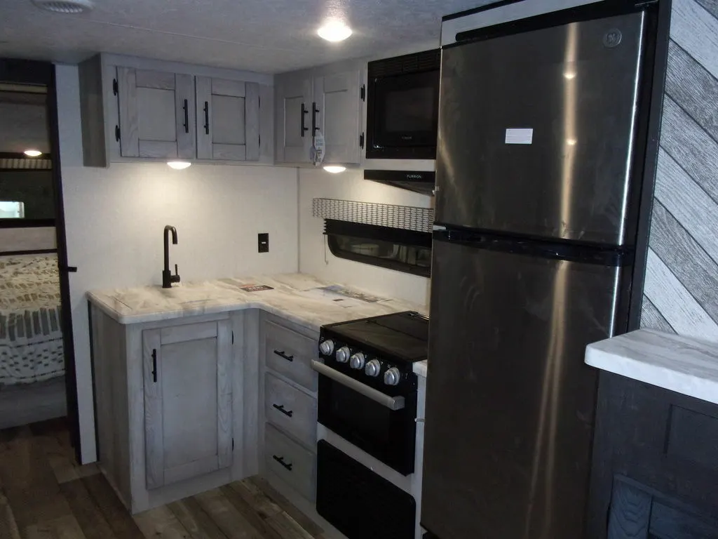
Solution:
<svg viewBox="0 0 718 539"><path fill-rule="evenodd" d="M439 76L436 71L374 81L376 147L432 147L437 144Z"/></svg>

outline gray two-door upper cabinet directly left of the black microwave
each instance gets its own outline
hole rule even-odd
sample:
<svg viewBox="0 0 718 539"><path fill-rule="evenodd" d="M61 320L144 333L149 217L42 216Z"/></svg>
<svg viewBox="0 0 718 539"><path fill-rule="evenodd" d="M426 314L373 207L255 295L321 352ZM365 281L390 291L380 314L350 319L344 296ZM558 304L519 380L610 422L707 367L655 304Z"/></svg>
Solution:
<svg viewBox="0 0 718 539"><path fill-rule="evenodd" d="M314 164L312 146L325 140L324 164L358 165L363 148L363 68L355 61L277 75L276 162Z"/></svg>

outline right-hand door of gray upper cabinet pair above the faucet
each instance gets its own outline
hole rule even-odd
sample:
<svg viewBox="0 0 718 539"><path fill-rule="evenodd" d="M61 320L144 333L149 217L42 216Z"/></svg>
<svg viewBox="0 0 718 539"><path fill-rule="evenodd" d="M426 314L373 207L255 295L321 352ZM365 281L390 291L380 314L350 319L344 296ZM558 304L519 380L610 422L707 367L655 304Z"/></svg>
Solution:
<svg viewBox="0 0 718 539"><path fill-rule="evenodd" d="M259 85L197 77L197 159L259 160Z"/></svg>

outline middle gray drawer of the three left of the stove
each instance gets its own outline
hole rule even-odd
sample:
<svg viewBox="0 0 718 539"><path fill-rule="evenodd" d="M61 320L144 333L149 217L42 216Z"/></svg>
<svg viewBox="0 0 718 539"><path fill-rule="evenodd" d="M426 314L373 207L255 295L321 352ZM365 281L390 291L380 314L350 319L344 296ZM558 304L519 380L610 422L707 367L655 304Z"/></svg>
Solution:
<svg viewBox="0 0 718 539"><path fill-rule="evenodd" d="M264 415L307 446L317 442L317 400L269 372L264 377Z"/></svg>

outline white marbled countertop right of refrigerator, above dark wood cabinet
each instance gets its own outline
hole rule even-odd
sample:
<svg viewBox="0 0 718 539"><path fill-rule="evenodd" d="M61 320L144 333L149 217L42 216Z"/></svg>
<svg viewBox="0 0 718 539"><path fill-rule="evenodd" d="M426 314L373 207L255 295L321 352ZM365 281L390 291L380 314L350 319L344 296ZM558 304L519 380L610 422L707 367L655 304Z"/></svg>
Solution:
<svg viewBox="0 0 718 539"><path fill-rule="evenodd" d="M640 329L589 344L586 363L718 404L718 343Z"/></svg>

